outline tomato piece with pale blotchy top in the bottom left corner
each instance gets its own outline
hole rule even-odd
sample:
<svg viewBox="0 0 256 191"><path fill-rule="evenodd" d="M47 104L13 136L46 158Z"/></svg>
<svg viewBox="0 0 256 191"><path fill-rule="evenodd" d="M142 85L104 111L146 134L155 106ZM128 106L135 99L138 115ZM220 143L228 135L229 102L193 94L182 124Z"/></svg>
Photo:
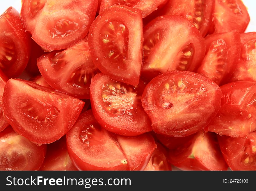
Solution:
<svg viewBox="0 0 256 191"><path fill-rule="evenodd" d="M18 135L9 126L0 132L0 170L38 170L46 145L38 146Z"/></svg>

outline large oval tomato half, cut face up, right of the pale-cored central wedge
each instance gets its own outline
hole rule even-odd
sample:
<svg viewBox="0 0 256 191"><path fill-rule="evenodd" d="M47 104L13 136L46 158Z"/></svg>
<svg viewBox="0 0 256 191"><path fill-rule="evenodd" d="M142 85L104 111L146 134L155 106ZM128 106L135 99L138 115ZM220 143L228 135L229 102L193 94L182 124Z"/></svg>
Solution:
<svg viewBox="0 0 256 191"><path fill-rule="evenodd" d="M221 89L193 72L170 71L147 84L142 105L159 134L183 137L200 131L221 107Z"/></svg>

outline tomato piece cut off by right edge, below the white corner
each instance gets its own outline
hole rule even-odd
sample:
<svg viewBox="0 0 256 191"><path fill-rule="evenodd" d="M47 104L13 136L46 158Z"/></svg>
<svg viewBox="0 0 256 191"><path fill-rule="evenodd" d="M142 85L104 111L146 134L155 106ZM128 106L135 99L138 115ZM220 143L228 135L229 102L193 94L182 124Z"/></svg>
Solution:
<svg viewBox="0 0 256 191"><path fill-rule="evenodd" d="M253 81L256 82L256 32L241 34L241 62L231 81Z"/></svg>

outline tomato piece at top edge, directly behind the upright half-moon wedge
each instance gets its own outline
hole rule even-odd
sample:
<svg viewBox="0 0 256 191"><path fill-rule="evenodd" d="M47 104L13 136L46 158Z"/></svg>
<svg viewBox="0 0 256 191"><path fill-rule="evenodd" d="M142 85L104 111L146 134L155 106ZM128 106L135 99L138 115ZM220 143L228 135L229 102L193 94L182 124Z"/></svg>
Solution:
<svg viewBox="0 0 256 191"><path fill-rule="evenodd" d="M102 0L99 13L105 10L108 7L114 5L123 5L131 8L136 8L141 10L142 18L146 17L154 10L157 10L157 7L166 3L167 0Z"/></svg>

